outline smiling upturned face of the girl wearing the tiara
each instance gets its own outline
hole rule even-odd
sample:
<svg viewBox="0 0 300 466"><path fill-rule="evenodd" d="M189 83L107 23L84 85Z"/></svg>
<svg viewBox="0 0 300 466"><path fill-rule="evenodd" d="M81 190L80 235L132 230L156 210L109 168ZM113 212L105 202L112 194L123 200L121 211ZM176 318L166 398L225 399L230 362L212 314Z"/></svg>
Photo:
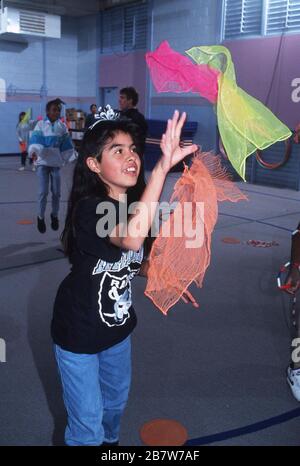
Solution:
<svg viewBox="0 0 300 466"><path fill-rule="evenodd" d="M109 195L118 199L135 186L141 169L141 160L131 136L118 132L102 151L101 162L89 157L87 164L109 186Z"/></svg>

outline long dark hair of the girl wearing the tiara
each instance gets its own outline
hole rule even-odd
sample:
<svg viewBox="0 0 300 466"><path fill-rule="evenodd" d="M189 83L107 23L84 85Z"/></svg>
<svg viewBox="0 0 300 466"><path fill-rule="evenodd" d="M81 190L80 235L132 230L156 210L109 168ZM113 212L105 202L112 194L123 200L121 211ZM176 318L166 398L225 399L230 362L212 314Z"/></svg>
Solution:
<svg viewBox="0 0 300 466"><path fill-rule="evenodd" d="M95 157L101 162L102 152L107 142L117 133L129 134L141 158L141 170L134 187L127 190L128 205L140 199L146 183L144 178L143 154L141 153L142 138L139 128L127 119L103 120L94 124L84 134L79 156L74 168L73 184L68 201L65 228L61 235L61 242L65 255L71 257L74 249L74 217L75 209L81 199L106 198L109 187L97 173L92 172L87 164L88 157ZM148 250L150 246L147 246Z"/></svg>

